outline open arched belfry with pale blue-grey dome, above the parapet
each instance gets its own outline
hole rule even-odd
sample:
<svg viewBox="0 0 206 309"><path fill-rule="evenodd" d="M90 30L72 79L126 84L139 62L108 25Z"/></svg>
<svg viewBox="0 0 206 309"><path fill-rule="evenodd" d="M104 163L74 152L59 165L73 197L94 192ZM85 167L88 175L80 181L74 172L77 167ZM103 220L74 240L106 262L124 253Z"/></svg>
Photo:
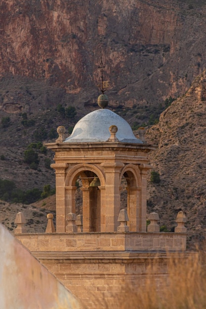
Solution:
<svg viewBox="0 0 206 309"><path fill-rule="evenodd" d="M154 148L107 109L84 116L65 140L62 130L57 129L56 143L46 144L55 152L56 232L65 232L67 214L76 213L77 179L82 181L83 232L117 232L122 179L127 184L129 231L146 232L147 153Z"/></svg>

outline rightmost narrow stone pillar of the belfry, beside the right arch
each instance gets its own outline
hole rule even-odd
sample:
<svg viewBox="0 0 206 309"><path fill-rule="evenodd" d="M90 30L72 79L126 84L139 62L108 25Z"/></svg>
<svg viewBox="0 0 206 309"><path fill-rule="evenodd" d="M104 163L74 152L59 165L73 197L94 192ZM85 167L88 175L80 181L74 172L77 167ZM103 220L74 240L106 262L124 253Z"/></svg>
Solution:
<svg viewBox="0 0 206 309"><path fill-rule="evenodd" d="M149 164L140 164L139 166L141 170L141 177L142 177L142 191L141 191L141 204L139 205L139 232L146 232L147 231L147 172L151 169L151 165Z"/></svg>

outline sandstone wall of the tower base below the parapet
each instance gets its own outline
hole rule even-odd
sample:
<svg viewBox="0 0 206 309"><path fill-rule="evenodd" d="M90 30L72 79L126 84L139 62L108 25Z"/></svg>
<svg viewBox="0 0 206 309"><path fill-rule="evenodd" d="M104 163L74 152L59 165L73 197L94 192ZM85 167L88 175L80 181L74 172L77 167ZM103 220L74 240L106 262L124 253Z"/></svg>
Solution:
<svg viewBox="0 0 206 309"><path fill-rule="evenodd" d="M81 254L80 254L81 255ZM69 256L69 254L68 254ZM167 263L172 254L141 254L131 257L112 254L106 258L97 255L79 259L61 256L55 259L39 255L41 262L53 272L74 295L81 298L87 309L119 309L118 295L125 288L137 291L144 287L149 278L154 280L157 290L164 290L167 283ZM185 257L179 255L179 258ZM152 266L152 267L151 267Z"/></svg>

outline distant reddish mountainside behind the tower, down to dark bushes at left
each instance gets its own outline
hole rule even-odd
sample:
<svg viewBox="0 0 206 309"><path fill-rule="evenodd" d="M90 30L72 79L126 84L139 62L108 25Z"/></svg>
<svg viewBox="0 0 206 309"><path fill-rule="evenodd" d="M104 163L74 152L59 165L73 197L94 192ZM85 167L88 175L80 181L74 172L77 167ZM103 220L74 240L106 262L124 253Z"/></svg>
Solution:
<svg viewBox="0 0 206 309"><path fill-rule="evenodd" d="M0 123L1 178L54 186L45 168L53 154L39 152L34 170L24 151L97 108L101 56L110 109L134 129L154 123L165 98L185 93L205 68L205 17L204 0L1 1L0 119L9 118ZM77 115L62 116L59 105Z"/></svg>

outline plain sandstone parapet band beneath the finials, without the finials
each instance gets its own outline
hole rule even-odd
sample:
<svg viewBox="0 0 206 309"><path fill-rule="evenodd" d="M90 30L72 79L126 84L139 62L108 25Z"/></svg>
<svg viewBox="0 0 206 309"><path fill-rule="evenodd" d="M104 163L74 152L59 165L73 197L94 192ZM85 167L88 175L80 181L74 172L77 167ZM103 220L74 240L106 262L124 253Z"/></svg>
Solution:
<svg viewBox="0 0 206 309"><path fill-rule="evenodd" d="M30 251L185 251L186 233L90 232L17 234Z"/></svg>

